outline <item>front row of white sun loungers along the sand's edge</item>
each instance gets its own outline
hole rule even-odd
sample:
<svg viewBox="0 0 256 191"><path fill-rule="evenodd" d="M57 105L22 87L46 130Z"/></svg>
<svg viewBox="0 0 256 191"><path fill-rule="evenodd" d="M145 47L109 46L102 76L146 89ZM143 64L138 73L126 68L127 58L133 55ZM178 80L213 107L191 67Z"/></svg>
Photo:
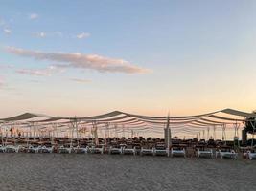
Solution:
<svg viewBox="0 0 256 191"><path fill-rule="evenodd" d="M109 148L105 148L104 145L102 146L86 146L86 147L65 147L63 145L59 147L47 147L45 145L43 146L33 146L29 145L28 147L18 145L18 146L13 146L13 145L0 145L0 152L3 153L19 153L19 152L27 152L27 153L91 153L91 154L104 154L105 152L108 154L131 154L131 155L152 155L152 156L171 156L171 157L186 157L186 149L182 147L172 147L171 150L166 149L165 147L153 147L153 148L136 148L136 147L128 147L127 145L121 145L119 147L117 146L110 146ZM208 158L213 158L214 157L214 151L211 148L196 148L196 156L198 158L200 157L208 157ZM256 153L247 151L246 155L248 159L256 159ZM238 159L238 153L236 153L232 149L227 149L227 148L222 148L222 149L217 149L215 151L215 157L216 158L229 158L229 159Z"/></svg>

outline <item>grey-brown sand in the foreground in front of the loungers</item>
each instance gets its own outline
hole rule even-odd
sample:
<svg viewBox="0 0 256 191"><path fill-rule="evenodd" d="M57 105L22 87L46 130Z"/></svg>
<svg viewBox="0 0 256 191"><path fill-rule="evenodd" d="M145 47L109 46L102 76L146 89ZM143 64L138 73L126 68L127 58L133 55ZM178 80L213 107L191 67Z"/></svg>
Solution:
<svg viewBox="0 0 256 191"><path fill-rule="evenodd" d="M0 154L0 190L256 190L256 161Z"/></svg>

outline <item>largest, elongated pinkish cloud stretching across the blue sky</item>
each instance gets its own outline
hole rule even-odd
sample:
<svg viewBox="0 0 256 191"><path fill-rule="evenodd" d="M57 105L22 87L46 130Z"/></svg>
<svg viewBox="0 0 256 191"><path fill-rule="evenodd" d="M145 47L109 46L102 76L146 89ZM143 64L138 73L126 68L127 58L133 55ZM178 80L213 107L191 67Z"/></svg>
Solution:
<svg viewBox="0 0 256 191"><path fill-rule="evenodd" d="M20 56L32 57L36 60L59 62L60 64L57 66L62 68L91 69L98 72L125 74L144 74L149 72L149 70L135 66L124 59L110 58L98 54L43 53L15 47L8 47L7 51Z"/></svg>

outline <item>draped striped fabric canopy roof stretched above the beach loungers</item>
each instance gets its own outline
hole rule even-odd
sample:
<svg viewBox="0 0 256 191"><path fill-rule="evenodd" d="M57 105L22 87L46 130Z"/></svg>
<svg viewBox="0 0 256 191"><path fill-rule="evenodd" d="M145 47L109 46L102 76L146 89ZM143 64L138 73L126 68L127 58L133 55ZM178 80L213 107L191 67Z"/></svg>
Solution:
<svg viewBox="0 0 256 191"><path fill-rule="evenodd" d="M233 109L223 109L207 114L195 116L170 116L169 123L172 132L176 134L195 135L205 133L209 128L228 128L238 131L247 118L256 118L256 114L246 113ZM140 131L153 134L162 134L168 117L151 117L113 111L107 114L92 117L50 117L33 113L25 113L16 117L0 118L0 123L24 125L34 123L41 128L57 124L58 128L69 129L70 123L76 122L80 126L92 128L97 125L99 130L114 130L117 133L128 128L130 131ZM255 121L254 121L255 123Z"/></svg>

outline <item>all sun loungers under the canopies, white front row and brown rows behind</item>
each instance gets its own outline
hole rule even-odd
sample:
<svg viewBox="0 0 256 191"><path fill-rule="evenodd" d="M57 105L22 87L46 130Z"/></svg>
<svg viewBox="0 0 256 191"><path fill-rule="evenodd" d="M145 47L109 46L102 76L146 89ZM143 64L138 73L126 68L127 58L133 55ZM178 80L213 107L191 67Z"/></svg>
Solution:
<svg viewBox="0 0 256 191"><path fill-rule="evenodd" d="M10 140L0 145L0 152L6 153L90 153L90 154L122 154L122 155L151 155L168 157L197 158L229 158L238 159L238 153L231 146L225 146L221 141L208 140L172 140L172 147L166 148L163 139L145 138L100 138L100 145L95 146L92 138L36 138ZM8 144L7 144L8 143ZM22 143L22 144L20 144ZM16 146L15 146L16 145ZM242 151L244 158L256 159L255 148Z"/></svg>

